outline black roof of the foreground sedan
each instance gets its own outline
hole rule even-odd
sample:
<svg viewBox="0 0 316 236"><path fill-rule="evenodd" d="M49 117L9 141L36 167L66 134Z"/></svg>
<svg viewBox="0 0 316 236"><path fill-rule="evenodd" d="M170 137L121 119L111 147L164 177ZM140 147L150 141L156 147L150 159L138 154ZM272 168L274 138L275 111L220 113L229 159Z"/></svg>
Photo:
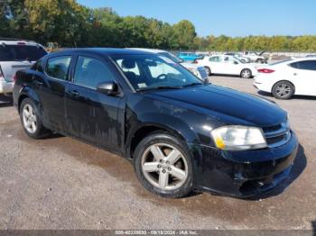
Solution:
<svg viewBox="0 0 316 236"><path fill-rule="evenodd" d="M119 56L119 55L143 55L143 54L153 54L144 50L131 50L131 49L116 49L116 48L76 48L76 49L65 49L56 52L51 52L50 55L59 55L67 53L96 53L102 56Z"/></svg>

